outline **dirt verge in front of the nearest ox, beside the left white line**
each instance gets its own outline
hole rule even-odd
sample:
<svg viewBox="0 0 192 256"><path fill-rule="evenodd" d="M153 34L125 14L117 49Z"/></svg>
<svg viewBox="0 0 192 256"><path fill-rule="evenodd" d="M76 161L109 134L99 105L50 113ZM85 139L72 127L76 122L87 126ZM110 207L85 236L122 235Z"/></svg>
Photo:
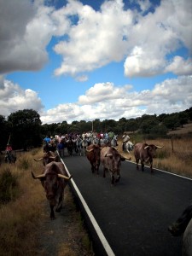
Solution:
<svg viewBox="0 0 192 256"><path fill-rule="evenodd" d="M67 186L64 207L55 212L55 219L49 218L49 203L44 201L44 211L38 230L39 247L37 255L41 256L94 256L91 242L86 230L82 227L80 213L75 207L73 196ZM38 233L39 234L39 233Z"/></svg>

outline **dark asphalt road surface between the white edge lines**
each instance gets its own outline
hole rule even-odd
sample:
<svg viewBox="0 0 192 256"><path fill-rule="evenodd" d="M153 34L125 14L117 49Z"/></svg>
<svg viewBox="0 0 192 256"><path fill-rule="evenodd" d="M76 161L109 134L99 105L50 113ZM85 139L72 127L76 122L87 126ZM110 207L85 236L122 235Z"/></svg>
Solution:
<svg viewBox="0 0 192 256"><path fill-rule="evenodd" d="M116 256L182 255L182 237L172 237L167 226L189 205L191 180L159 171L151 175L148 168L141 172L122 162L120 182L112 187L102 166L99 176L91 173L86 157L64 162Z"/></svg>

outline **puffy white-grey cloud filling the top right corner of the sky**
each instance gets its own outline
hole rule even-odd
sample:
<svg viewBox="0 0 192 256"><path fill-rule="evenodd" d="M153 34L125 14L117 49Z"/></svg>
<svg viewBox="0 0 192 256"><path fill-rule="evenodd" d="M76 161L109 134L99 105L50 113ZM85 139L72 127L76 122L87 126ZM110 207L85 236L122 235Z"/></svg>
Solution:
<svg viewBox="0 0 192 256"><path fill-rule="evenodd" d="M125 76L176 73L176 69L167 67L170 65L167 55L183 45L191 51L192 26L186 23L192 18L191 9L192 3L188 1L161 1L154 14L148 13L138 19L132 27L130 40L135 46L125 59ZM177 74L184 74L183 67L177 67Z"/></svg>

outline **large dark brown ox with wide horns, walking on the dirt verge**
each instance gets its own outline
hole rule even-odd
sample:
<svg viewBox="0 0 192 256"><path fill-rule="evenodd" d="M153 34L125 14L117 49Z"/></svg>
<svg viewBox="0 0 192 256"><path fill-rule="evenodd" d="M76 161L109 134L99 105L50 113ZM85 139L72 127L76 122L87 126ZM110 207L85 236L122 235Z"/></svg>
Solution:
<svg viewBox="0 0 192 256"><path fill-rule="evenodd" d="M55 218L55 212L61 212L64 189L67 181L72 177L67 176L65 166L61 162L51 162L44 167L44 172L33 178L40 179L50 206L50 218ZM54 212L55 207L55 212Z"/></svg>

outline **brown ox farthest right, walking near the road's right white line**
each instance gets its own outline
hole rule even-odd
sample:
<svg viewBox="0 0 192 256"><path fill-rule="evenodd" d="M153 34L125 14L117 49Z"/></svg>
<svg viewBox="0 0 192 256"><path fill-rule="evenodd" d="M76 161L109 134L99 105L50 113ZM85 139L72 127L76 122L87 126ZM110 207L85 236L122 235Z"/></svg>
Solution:
<svg viewBox="0 0 192 256"><path fill-rule="evenodd" d="M155 146L154 144L148 145L147 143L137 143L135 145L134 155L136 158L137 170L139 169L138 162L139 162L139 160L141 160L142 171L144 171L144 162L147 164L149 162L151 173L154 172L153 171L153 158L156 156L157 148L162 148L162 147Z"/></svg>

